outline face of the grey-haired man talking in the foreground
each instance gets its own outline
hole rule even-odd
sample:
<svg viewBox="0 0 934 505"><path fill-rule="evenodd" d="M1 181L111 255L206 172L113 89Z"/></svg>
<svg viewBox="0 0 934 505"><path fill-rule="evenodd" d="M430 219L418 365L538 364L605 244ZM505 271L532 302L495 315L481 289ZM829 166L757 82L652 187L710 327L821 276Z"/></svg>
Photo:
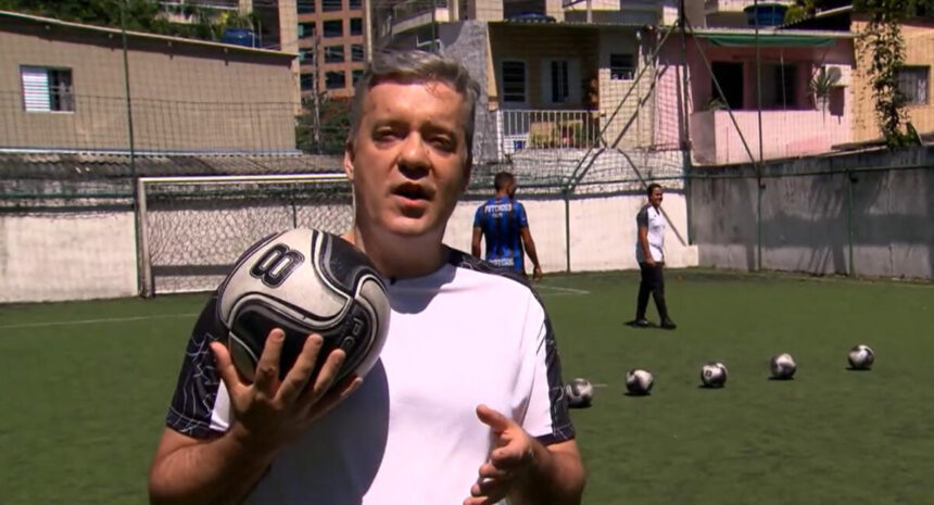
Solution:
<svg viewBox="0 0 934 505"><path fill-rule="evenodd" d="M370 88L344 153L358 226L406 237L444 232L469 176L466 106L445 83Z"/></svg>

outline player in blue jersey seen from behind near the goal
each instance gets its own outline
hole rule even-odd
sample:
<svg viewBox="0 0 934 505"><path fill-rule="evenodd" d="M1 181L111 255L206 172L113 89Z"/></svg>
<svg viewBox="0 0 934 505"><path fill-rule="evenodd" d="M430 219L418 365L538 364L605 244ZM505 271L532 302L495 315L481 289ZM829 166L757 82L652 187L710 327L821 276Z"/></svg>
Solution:
<svg viewBox="0 0 934 505"><path fill-rule="evenodd" d="M532 260L532 278L542 278L542 266L535 253L535 241L529 230L526 207L516 201L516 178L508 172L493 179L496 195L477 209L474 217L471 251L480 256L480 239L487 239L485 260L501 268L526 276L526 254Z"/></svg>

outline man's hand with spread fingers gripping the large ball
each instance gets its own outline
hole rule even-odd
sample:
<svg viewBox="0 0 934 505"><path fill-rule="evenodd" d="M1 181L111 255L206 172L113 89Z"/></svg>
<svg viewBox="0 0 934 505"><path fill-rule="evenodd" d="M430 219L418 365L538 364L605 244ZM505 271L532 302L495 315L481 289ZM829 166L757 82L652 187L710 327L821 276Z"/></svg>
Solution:
<svg viewBox="0 0 934 505"><path fill-rule="evenodd" d="M283 341L282 330L277 328L269 332L252 384L237 374L227 346L219 342L211 344L217 359L217 373L230 395L235 418L231 434L250 444L269 449L281 446L349 396L363 381L351 376L333 383L346 358L342 350L331 351L321 369L314 375L315 363L324 345L324 339L316 333L308 336L294 366L279 380Z"/></svg>

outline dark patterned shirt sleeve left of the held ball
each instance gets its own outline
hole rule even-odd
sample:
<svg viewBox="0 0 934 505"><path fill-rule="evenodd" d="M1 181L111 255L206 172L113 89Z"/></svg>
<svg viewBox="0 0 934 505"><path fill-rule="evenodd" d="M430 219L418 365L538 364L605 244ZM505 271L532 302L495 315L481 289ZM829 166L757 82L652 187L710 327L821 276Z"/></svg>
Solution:
<svg viewBox="0 0 934 505"><path fill-rule="evenodd" d="M211 416L217 400L219 378L214 367L214 354L209 344L222 340L226 328L217 315L217 296L212 295L204 306L181 363L178 384L172 397L165 424L179 433L195 439L213 438L220 434L211 429Z"/></svg>

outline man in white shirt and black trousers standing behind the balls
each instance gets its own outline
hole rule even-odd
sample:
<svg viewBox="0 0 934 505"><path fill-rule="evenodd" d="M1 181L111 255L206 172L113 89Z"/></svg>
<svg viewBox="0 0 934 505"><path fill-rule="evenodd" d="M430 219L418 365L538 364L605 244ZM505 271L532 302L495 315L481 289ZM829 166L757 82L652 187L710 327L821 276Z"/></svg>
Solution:
<svg viewBox="0 0 934 505"><path fill-rule="evenodd" d="M639 283L635 319L628 324L636 328L652 326L645 318L648 294L651 293L652 298L655 299L655 306L658 308L658 317L661 318L659 326L667 330L673 330L677 325L668 317L668 306L665 304L665 278L661 275L661 269L665 267L666 225L665 215L661 213L661 186L651 184L646 188L646 193L648 203L635 216L635 223L639 227L635 258L642 273L642 282Z"/></svg>

